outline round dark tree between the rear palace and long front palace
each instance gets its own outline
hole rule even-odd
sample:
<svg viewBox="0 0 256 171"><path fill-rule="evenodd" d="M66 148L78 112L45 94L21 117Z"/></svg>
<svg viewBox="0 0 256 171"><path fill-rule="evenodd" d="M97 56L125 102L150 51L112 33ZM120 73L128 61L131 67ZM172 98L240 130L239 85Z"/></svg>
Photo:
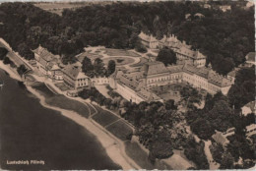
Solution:
<svg viewBox="0 0 256 171"><path fill-rule="evenodd" d="M159 55L156 60L162 62L165 66L167 66L168 64L176 64L177 57L173 50L168 48L162 48L160 49Z"/></svg>

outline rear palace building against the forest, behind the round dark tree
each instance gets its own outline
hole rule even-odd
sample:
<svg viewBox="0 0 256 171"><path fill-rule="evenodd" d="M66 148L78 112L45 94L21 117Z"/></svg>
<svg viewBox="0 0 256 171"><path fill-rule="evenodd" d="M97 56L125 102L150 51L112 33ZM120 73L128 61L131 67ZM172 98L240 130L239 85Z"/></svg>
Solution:
<svg viewBox="0 0 256 171"><path fill-rule="evenodd" d="M163 38L158 40L153 35L147 35L144 32L139 34L142 43L152 49L168 47L172 49L178 60L191 61L194 66L200 68L206 65L206 56L199 52L199 50L192 50L191 45L186 44L185 41L180 41L173 34L170 36L163 35Z"/></svg>

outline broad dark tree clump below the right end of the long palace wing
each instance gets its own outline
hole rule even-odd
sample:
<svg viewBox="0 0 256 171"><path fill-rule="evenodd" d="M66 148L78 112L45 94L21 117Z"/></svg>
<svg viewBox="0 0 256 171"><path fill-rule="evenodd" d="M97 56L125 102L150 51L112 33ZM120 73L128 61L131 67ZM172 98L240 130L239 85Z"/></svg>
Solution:
<svg viewBox="0 0 256 171"><path fill-rule="evenodd" d="M215 130L224 132L232 127L238 114L229 107L227 98L221 92L214 97L208 94L205 103L203 109L194 108L187 113L187 122L200 139L208 140Z"/></svg>

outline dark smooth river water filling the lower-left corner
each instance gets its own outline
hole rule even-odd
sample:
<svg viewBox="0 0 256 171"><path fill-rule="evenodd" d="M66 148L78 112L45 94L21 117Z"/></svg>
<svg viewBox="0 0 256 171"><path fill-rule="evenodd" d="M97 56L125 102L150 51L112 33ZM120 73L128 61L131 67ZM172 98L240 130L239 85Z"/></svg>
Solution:
<svg viewBox="0 0 256 171"><path fill-rule="evenodd" d="M1 69L0 78L0 169L121 169L89 131L42 107ZM19 160L29 165L10 164Z"/></svg>

